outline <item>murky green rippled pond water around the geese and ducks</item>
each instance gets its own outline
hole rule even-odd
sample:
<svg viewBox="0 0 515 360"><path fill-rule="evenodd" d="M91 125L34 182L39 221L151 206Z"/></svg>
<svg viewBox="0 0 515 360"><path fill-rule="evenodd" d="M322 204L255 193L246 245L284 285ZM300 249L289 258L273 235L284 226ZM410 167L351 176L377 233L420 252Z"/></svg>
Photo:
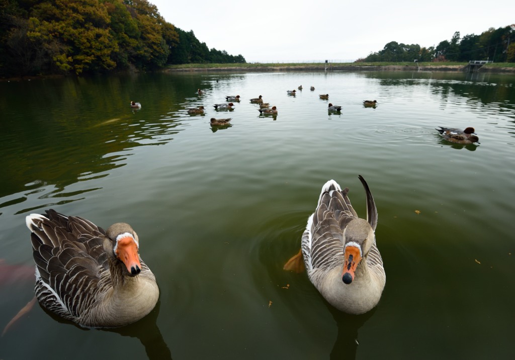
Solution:
<svg viewBox="0 0 515 360"><path fill-rule="evenodd" d="M0 329L33 297L25 217L48 208L130 223L161 291L122 329L36 304L0 337L0 359L515 357L515 76L139 74L0 82L0 94ZM216 112L228 95L241 102ZM259 95L277 116L259 116ZM472 126L480 145L438 126ZM386 287L354 316L282 267L329 179L366 217L358 174Z"/></svg>

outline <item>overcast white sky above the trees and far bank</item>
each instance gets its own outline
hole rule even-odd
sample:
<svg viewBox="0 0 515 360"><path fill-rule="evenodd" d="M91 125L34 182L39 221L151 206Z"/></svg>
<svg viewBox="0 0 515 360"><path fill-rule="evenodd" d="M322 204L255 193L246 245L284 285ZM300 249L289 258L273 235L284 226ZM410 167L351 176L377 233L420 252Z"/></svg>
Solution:
<svg viewBox="0 0 515 360"><path fill-rule="evenodd" d="M210 49L241 54L247 62L353 61L390 41L437 46L455 31L480 35L515 23L513 0L149 2Z"/></svg>

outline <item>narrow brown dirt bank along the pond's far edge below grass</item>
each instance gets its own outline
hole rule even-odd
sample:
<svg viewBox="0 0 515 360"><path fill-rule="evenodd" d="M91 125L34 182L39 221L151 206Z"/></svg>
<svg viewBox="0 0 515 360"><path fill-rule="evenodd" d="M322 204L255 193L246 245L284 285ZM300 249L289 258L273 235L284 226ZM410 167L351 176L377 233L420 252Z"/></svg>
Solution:
<svg viewBox="0 0 515 360"><path fill-rule="evenodd" d="M323 64L320 65L294 65L294 66L257 66L257 67L195 67L195 68L174 68L164 69L170 72L188 72L188 71L323 71L326 70ZM347 70L347 71L466 71L466 66L461 65L335 65L328 66L327 70ZM481 67L479 73L495 73L495 74L515 74L515 67Z"/></svg>

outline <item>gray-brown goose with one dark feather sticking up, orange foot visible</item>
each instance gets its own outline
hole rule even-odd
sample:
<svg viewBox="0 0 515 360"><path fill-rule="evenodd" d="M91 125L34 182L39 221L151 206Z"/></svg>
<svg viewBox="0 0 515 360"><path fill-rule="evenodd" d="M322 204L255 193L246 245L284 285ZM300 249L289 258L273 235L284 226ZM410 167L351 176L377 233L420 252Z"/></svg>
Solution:
<svg viewBox="0 0 515 360"><path fill-rule="evenodd" d="M333 307L363 314L379 302L386 275L375 243L377 210L372 193L359 175L367 195L367 220L352 208L348 188L330 180L322 187L315 212L307 220L301 252L285 265L294 269L302 257L311 282Z"/></svg>

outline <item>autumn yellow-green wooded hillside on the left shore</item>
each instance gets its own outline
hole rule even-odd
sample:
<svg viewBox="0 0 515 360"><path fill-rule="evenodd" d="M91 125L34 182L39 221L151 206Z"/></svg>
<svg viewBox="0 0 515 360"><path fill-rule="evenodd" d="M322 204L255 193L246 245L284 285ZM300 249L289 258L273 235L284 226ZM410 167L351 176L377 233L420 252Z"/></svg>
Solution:
<svg viewBox="0 0 515 360"><path fill-rule="evenodd" d="M0 76L245 62L167 23L147 0L0 0Z"/></svg>

